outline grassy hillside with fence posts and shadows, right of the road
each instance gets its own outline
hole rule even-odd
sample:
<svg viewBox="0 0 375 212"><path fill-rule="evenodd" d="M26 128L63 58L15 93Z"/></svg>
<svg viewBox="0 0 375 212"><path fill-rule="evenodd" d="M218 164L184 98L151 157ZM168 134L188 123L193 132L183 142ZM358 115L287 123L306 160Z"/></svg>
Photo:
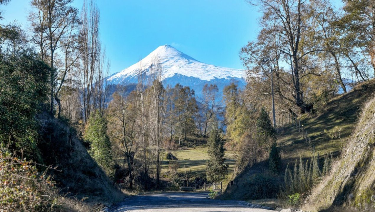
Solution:
<svg viewBox="0 0 375 212"><path fill-rule="evenodd" d="M315 154L319 153L320 157L332 153L338 157L342 148L345 147L345 140L353 132L357 126L357 121L361 110L366 101L372 96L375 91L375 80L357 85L350 92L337 96L326 105L326 109L315 116L304 114L300 117L301 125L304 125L305 130L308 131L308 136L311 137L312 146L315 145ZM330 138L324 130L341 129L340 138ZM304 160L311 159L312 153L309 145L302 139L302 133L297 126L280 127L278 133L278 145L282 156L282 170L285 170L287 164L294 165L297 159L302 157ZM320 166L323 166L323 160L320 160ZM273 176L267 170L268 161L266 159L260 161L252 167L246 168L242 173L235 176L233 184L228 186L222 198L233 199L262 199L269 197L277 197L280 191L278 184L283 184L284 173L279 176ZM252 181L257 180L255 176L263 178L269 177L269 181L258 182L253 185ZM254 194L260 183L270 183L266 185L269 190L273 190L266 196L257 196ZM276 186L274 186L276 184Z"/></svg>

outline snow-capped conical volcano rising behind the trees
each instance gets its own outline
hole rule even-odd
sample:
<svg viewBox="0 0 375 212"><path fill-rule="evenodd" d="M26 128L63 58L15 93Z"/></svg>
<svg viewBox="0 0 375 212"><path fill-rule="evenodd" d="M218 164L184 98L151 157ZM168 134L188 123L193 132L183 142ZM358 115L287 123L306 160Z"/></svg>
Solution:
<svg viewBox="0 0 375 212"><path fill-rule="evenodd" d="M195 90L197 96L200 96L201 90L206 83L216 84L220 93L223 87L233 80L237 81L240 87L245 85L245 70L205 64L170 45L157 47L141 61L113 74L107 80L111 84L127 85L137 83L138 73L145 71L147 76L149 68L155 63L155 60L162 65L162 80L164 84L174 86L180 83L183 86L189 86Z"/></svg>

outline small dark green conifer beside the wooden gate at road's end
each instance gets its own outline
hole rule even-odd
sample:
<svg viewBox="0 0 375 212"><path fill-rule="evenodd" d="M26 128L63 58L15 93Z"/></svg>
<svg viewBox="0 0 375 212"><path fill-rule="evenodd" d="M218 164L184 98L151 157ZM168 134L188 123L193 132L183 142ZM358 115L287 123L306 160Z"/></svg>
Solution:
<svg viewBox="0 0 375 212"><path fill-rule="evenodd" d="M225 179L228 173L228 165L224 164L224 150L224 140L216 126L208 138L208 154L210 155L210 160L206 164L208 181L219 182Z"/></svg>

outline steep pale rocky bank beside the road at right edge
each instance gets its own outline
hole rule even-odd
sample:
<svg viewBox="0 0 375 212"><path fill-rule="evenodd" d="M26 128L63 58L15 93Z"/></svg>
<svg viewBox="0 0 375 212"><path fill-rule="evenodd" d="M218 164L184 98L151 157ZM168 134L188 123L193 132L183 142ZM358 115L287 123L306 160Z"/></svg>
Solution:
<svg viewBox="0 0 375 212"><path fill-rule="evenodd" d="M375 202L375 98L366 104L347 150L333 165L332 172L315 189L306 211L321 211L332 206L353 206L374 210ZM374 199L374 198L373 198Z"/></svg>

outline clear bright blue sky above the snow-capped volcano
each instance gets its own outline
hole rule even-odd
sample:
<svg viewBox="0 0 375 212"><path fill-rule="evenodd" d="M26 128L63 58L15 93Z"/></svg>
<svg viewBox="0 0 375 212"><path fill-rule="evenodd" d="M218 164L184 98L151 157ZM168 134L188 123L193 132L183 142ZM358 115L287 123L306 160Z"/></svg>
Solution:
<svg viewBox="0 0 375 212"><path fill-rule="evenodd" d="M244 0L96 0L111 73L170 44L208 64L243 68L239 51L258 32L257 9ZM81 9L83 0L75 0ZM1 6L4 20L27 29L30 0Z"/></svg>

